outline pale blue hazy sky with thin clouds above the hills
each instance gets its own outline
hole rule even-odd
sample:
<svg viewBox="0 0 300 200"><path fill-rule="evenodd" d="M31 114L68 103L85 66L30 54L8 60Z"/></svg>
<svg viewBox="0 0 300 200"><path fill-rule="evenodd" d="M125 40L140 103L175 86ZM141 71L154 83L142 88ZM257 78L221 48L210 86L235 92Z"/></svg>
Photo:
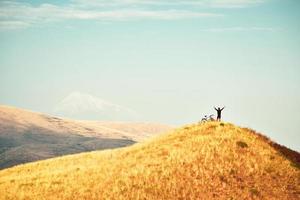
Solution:
<svg viewBox="0 0 300 200"><path fill-rule="evenodd" d="M298 0L1 0L0 104L56 114L79 94L79 107L105 101L176 126L226 106L224 121L299 151L299 10Z"/></svg>

